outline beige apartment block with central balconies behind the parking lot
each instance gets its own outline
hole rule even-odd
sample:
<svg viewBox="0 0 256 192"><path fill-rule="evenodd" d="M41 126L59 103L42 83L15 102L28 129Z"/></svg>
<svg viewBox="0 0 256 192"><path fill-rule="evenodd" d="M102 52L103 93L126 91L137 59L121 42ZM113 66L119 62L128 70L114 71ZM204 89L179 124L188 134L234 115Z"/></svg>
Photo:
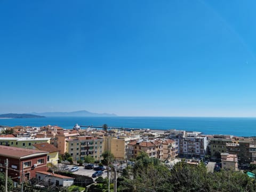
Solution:
<svg viewBox="0 0 256 192"><path fill-rule="evenodd" d="M75 137L66 140L67 152L73 157L76 162L79 159L83 160L85 156L92 156L95 160L100 160L104 149L102 138L91 136Z"/></svg>

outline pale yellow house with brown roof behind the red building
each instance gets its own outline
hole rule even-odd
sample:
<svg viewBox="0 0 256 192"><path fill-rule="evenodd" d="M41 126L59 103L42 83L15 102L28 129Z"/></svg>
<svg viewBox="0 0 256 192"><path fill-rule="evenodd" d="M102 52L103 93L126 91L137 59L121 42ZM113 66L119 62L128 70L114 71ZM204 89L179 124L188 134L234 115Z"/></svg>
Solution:
<svg viewBox="0 0 256 192"><path fill-rule="evenodd" d="M47 154L47 167L53 167L58 165L59 160L59 150L53 145L44 142L36 143L33 145L33 149L48 151Z"/></svg>

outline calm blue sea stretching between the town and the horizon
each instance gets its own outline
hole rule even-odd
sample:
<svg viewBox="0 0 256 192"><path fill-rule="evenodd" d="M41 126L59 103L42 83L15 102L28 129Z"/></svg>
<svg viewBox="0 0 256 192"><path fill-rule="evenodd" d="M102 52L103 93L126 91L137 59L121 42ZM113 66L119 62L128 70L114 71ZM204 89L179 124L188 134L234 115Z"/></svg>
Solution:
<svg viewBox="0 0 256 192"><path fill-rule="evenodd" d="M58 125L73 129L75 124L128 127L160 130L199 131L204 134L229 134L256 137L256 118L228 117L46 117L0 119L0 125L44 126Z"/></svg>

